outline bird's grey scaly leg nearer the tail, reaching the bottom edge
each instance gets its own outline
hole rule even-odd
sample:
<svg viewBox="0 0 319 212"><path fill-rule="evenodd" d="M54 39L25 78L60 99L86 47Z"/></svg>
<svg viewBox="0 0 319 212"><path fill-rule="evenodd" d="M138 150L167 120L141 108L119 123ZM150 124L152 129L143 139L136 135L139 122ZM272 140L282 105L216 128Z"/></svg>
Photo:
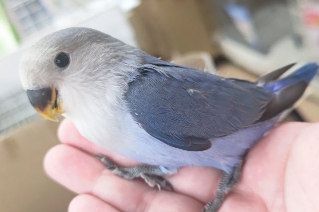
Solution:
<svg viewBox="0 0 319 212"><path fill-rule="evenodd" d="M223 173L219 182L216 197L213 201L207 203L202 212L218 212L221 204L228 192L238 183L241 176L241 163L231 174Z"/></svg>

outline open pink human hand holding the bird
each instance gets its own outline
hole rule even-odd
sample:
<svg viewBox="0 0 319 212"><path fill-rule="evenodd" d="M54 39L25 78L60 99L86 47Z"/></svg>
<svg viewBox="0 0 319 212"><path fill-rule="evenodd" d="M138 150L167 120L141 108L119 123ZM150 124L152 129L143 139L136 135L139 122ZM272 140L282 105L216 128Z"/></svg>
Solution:
<svg viewBox="0 0 319 212"><path fill-rule="evenodd" d="M288 123L273 130L247 156L242 179L220 212L318 210L318 128ZM80 194L69 212L200 212L214 198L221 177L212 168L184 167L167 178L175 192L158 191L143 181L105 172L94 154L104 154L120 166L137 163L87 141L70 120L61 124L59 137L64 144L47 153L45 169L54 180Z"/></svg>

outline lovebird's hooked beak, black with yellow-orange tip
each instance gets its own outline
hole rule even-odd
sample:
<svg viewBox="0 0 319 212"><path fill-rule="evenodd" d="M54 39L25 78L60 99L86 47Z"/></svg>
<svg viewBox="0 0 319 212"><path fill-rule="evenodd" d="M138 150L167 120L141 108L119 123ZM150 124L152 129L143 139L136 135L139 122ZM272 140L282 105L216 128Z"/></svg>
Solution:
<svg viewBox="0 0 319 212"><path fill-rule="evenodd" d="M64 112L62 104L57 98L57 90L55 88L26 90L26 94L34 109L51 121L58 121L55 116Z"/></svg>

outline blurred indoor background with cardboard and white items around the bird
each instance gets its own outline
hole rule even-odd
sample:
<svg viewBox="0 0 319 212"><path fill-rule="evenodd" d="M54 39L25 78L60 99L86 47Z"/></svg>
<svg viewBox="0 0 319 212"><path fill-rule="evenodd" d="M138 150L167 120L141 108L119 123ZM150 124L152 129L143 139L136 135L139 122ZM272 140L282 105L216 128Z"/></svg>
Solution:
<svg viewBox="0 0 319 212"><path fill-rule="evenodd" d="M223 77L319 62L319 0L0 0L1 212L66 211L75 196L43 172L58 123L35 112L18 76L27 47L71 26ZM288 120L319 121L318 78Z"/></svg>

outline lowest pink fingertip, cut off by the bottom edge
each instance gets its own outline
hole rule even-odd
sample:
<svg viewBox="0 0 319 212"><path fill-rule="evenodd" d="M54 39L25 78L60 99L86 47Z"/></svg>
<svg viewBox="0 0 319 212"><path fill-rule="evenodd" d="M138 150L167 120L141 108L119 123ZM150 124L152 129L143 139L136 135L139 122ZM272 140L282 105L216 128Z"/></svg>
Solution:
<svg viewBox="0 0 319 212"><path fill-rule="evenodd" d="M70 205L68 212L120 212L104 201L92 195L79 195L75 197Z"/></svg>

